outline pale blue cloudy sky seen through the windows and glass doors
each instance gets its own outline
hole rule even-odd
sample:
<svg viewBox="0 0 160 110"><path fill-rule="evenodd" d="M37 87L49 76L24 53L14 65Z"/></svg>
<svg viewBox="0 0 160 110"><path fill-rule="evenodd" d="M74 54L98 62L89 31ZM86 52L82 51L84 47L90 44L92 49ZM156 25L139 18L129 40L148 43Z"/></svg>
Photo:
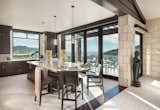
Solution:
<svg viewBox="0 0 160 110"><path fill-rule="evenodd" d="M21 36L21 38L26 38L26 35L21 33L16 33L15 37ZM34 35L28 35L29 38L37 37ZM71 51L71 42L69 41L70 36L66 37L66 51ZM135 45L139 45L140 37L138 35L135 36ZM18 39L14 38L13 40L14 46L27 46L31 48L39 47L39 40L35 39ZM118 48L118 34L104 35L103 36L103 52L117 49ZM98 37L87 38L87 51L88 52L98 52Z"/></svg>

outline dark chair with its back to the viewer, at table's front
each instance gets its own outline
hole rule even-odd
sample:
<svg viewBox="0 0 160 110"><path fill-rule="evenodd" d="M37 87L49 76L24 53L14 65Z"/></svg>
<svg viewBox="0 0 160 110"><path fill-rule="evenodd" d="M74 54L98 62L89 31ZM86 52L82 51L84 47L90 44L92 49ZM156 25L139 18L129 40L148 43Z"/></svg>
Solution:
<svg viewBox="0 0 160 110"><path fill-rule="evenodd" d="M77 98L82 95L83 99L83 79L78 77L77 71L63 71L62 75L62 103L61 109L63 110L64 101L75 101L75 109L77 109ZM81 85L81 90L78 90L78 86ZM74 98L69 97L70 94L74 94Z"/></svg>

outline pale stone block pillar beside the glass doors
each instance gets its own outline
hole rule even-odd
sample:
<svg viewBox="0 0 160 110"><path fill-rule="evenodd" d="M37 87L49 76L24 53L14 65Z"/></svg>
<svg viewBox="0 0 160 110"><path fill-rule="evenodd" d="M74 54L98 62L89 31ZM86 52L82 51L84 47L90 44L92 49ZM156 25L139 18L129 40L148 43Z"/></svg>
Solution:
<svg viewBox="0 0 160 110"><path fill-rule="evenodd" d="M145 27L139 21L130 15L120 16L119 22L119 50L118 50L118 64L119 64L119 84L128 87L132 81L132 65L134 57L134 39L137 29L134 27L138 24Z"/></svg>

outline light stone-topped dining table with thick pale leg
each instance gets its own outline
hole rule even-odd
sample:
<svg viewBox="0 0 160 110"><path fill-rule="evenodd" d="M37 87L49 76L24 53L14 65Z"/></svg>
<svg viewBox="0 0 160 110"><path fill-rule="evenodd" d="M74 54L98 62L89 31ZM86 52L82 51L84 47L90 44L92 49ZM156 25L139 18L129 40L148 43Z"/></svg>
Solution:
<svg viewBox="0 0 160 110"><path fill-rule="evenodd" d="M60 74L63 71L77 71L80 78L85 77L85 73L89 71L89 67L78 63L65 62L59 66L58 62L47 62L47 61L28 61L29 65L35 66L34 82L35 82L35 96L40 97L41 90L41 71L44 73L44 77L48 76L48 71L52 74Z"/></svg>

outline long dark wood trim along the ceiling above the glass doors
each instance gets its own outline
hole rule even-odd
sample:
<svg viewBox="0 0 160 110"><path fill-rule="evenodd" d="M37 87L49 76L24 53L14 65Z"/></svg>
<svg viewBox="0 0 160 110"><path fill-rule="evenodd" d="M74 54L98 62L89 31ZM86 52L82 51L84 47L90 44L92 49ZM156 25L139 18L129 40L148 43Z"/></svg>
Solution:
<svg viewBox="0 0 160 110"><path fill-rule="evenodd" d="M114 24L118 22L118 16L113 16L110 18L102 19L93 23L85 24L82 26L78 26L75 28L67 29L61 32L58 32L57 34L71 34L71 33L78 33L82 32L84 30L92 29L98 26L107 25L107 24Z"/></svg>

